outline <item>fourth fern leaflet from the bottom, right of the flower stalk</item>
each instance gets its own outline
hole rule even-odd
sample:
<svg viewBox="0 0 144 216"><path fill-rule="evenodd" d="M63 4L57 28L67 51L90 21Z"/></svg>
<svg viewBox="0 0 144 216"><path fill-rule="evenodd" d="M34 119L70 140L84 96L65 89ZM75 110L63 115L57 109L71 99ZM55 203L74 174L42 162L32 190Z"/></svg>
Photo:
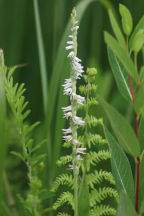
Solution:
<svg viewBox="0 0 144 216"><path fill-rule="evenodd" d="M102 160L108 160L111 158L111 154L108 150L101 150L99 152L90 151L87 153L87 166L97 165Z"/></svg>

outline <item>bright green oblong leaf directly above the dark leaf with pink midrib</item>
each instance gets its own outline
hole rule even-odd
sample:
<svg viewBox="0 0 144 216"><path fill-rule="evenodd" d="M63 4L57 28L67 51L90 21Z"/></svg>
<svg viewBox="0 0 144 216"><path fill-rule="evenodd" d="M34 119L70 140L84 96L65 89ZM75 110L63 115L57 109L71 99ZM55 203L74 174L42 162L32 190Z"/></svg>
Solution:
<svg viewBox="0 0 144 216"><path fill-rule="evenodd" d="M117 56L119 61L123 64L126 71L134 78L134 80L137 82L138 75L135 69L135 66L130 58L130 56L127 55L125 49L123 49L119 43L107 32L104 34L105 42L106 44L112 49L114 54Z"/></svg>

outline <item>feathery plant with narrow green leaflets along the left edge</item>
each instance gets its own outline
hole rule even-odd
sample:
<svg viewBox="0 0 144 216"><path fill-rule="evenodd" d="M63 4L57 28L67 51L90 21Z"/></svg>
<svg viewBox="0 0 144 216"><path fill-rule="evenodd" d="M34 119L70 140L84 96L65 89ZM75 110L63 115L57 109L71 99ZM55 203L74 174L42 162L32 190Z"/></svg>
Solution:
<svg viewBox="0 0 144 216"><path fill-rule="evenodd" d="M19 134L19 142L22 148L22 153L14 151L11 153L14 156L19 157L27 167L29 191L27 192L26 197L19 195L19 199L26 210L26 215L40 216L43 214L44 209L42 208L40 199L40 194L43 192L42 182L38 175L40 166L43 166L42 161L46 155L36 155L36 150L41 147L45 140L36 146L34 145L31 133L39 122L31 125L25 122L25 119L30 114L30 110L26 109L28 102L25 101L25 97L23 95L25 92L24 84L14 84L13 80L13 73L18 66L7 68L4 65L4 56L2 57L6 98L15 117L16 127Z"/></svg>

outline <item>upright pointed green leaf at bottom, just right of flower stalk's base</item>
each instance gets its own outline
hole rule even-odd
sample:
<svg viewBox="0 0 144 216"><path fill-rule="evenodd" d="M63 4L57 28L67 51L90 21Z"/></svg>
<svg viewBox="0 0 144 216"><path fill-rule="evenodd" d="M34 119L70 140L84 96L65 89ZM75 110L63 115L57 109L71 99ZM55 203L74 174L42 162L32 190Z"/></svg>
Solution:
<svg viewBox="0 0 144 216"><path fill-rule="evenodd" d="M78 214L88 216L89 210L89 188L84 176L79 189Z"/></svg>

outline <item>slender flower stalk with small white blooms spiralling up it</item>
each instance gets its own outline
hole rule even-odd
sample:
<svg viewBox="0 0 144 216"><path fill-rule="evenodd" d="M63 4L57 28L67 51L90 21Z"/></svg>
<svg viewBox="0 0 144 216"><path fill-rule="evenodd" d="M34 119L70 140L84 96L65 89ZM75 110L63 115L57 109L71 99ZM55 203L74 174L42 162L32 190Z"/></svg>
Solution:
<svg viewBox="0 0 144 216"><path fill-rule="evenodd" d="M76 81L82 77L84 72L81 60L77 57L77 30L79 28L78 21L76 20L75 8L71 14L72 28L70 41L67 42L66 50L69 50L68 58L71 62L70 78L65 79L64 94L70 97L70 105L63 107L64 117L70 122L70 127L63 129L63 139L65 142L72 144L72 165L69 166L73 170L74 175L74 215L78 216L78 176L79 176L79 160L82 160L81 154L85 154L86 148L81 148L81 143L77 140L77 129L83 126L85 122L77 116L78 107L83 105L84 97L77 95Z"/></svg>

